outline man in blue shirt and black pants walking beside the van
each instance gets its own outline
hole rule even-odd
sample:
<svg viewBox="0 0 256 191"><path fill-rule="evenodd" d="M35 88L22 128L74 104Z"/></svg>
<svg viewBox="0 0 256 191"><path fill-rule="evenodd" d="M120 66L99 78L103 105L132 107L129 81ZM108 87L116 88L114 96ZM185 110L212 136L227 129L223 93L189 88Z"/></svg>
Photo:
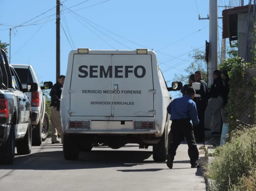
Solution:
<svg viewBox="0 0 256 191"><path fill-rule="evenodd" d="M188 144L188 156L190 158L191 168L199 168L199 164L197 164L199 152L193 126L190 123L190 120L192 120L194 126L199 124L196 103L193 101L195 93L196 90L193 87L188 87L184 97L174 99L167 107L167 112L171 115L170 120L172 120L172 143L168 148L167 156L167 166L170 169L172 169L174 156L176 155L176 150L181 143L183 135Z"/></svg>

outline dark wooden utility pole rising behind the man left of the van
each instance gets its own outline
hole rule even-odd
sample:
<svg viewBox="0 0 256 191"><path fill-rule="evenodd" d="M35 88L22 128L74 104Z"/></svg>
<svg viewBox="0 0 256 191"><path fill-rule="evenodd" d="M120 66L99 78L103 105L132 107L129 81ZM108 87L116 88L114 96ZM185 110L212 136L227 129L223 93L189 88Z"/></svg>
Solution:
<svg viewBox="0 0 256 191"><path fill-rule="evenodd" d="M56 3L56 82L58 82L60 76L60 0Z"/></svg>

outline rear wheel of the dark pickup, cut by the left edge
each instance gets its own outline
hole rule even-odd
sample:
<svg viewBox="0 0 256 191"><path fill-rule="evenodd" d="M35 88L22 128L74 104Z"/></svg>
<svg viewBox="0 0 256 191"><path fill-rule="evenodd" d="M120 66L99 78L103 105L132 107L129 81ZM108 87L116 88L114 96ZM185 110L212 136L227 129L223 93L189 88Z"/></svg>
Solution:
<svg viewBox="0 0 256 191"><path fill-rule="evenodd" d="M11 126L7 141L0 146L0 164L12 165L15 152L15 125Z"/></svg>

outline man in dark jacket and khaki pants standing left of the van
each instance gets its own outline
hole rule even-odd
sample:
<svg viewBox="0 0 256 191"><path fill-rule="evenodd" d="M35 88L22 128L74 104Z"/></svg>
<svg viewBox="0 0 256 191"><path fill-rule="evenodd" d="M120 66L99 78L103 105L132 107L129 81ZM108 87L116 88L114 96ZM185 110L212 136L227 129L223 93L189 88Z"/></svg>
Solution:
<svg viewBox="0 0 256 191"><path fill-rule="evenodd" d="M60 120L60 95L62 92L62 87L65 81L65 75L60 75L58 82L53 85L50 96L51 96L51 129L52 129L52 144L60 143L57 140L58 134L61 138L61 143L63 142L63 130L61 127Z"/></svg>

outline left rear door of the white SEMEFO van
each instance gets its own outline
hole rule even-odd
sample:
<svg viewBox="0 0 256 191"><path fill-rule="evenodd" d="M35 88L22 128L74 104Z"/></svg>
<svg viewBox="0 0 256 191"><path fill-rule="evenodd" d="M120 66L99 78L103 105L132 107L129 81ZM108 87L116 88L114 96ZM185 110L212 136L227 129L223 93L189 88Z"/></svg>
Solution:
<svg viewBox="0 0 256 191"><path fill-rule="evenodd" d="M70 82L70 110L72 116L111 116L112 55L74 54Z"/></svg>

